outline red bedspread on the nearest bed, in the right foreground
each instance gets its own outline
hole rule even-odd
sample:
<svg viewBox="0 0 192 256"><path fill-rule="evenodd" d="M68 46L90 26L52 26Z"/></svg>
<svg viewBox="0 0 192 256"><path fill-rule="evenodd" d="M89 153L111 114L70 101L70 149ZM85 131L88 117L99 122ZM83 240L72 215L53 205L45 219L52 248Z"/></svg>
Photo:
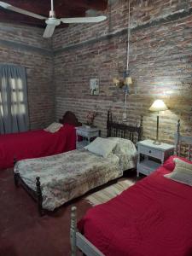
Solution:
<svg viewBox="0 0 192 256"><path fill-rule="evenodd" d="M191 256L192 187L166 165L111 201L91 208L79 230L105 255Z"/></svg>

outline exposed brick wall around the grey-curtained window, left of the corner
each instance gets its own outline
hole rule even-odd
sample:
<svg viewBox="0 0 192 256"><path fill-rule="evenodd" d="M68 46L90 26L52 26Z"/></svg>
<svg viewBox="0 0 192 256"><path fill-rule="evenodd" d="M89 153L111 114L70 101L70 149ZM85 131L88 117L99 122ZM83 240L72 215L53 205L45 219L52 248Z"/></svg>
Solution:
<svg viewBox="0 0 192 256"><path fill-rule="evenodd" d="M42 35L43 29L0 23L1 63L26 67L31 129L54 119L51 41Z"/></svg>

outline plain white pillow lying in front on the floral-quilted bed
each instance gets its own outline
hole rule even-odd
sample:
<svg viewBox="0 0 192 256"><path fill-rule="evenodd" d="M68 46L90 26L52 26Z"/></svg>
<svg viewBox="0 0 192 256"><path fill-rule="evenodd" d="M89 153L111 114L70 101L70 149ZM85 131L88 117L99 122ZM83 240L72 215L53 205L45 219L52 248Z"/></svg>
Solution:
<svg viewBox="0 0 192 256"><path fill-rule="evenodd" d="M107 138L96 137L92 143L84 148L89 150L91 153L102 155L106 158L110 153L112 153L116 144L117 143L115 141L110 141Z"/></svg>

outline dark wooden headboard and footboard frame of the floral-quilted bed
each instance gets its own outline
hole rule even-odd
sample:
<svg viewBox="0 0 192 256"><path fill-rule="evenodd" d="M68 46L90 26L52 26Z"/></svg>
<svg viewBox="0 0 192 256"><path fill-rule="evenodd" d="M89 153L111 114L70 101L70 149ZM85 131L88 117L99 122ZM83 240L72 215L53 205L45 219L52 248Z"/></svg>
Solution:
<svg viewBox="0 0 192 256"><path fill-rule="evenodd" d="M70 112L68 113L71 115ZM63 116L63 119L64 119L64 116ZM60 122L63 122L63 119L60 119ZM141 140L141 137L143 134L143 117L141 117L139 127L137 126L134 127L131 125L125 125L125 124L119 124L119 123L113 122L112 113L108 111L107 130L108 130L108 137L129 138L131 139L131 141L133 141L133 143L137 143L137 141ZM14 160L14 162L16 163L16 160ZM19 184L21 184L21 186L24 189L26 189L28 194L31 195L35 201L38 202L39 215L40 216L44 215L45 210L42 207L43 197L42 197L40 177L36 177L36 191L30 189L26 185L26 183L20 177L19 172L14 172L14 179L15 179L16 187L19 187Z"/></svg>

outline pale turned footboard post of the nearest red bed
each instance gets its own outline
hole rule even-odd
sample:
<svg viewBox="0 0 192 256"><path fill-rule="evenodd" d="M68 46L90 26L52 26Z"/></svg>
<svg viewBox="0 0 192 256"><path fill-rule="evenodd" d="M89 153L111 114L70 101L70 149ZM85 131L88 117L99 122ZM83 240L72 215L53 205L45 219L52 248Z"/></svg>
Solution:
<svg viewBox="0 0 192 256"><path fill-rule="evenodd" d="M71 212L71 229L70 229L70 240L71 240L71 249L72 256L76 256L77 247L76 247L76 231L77 231L77 208L72 207Z"/></svg>

